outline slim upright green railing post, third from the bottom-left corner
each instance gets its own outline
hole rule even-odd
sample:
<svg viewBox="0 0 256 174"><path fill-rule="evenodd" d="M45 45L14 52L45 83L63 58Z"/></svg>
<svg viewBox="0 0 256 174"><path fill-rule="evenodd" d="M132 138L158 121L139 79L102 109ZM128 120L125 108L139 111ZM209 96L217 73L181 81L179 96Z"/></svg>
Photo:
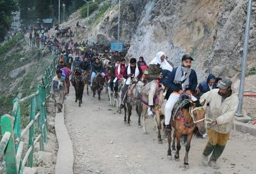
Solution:
<svg viewBox="0 0 256 174"><path fill-rule="evenodd" d="M30 112L30 121L35 120L36 115L36 98L31 98L31 112ZM34 136L35 136L35 123L29 128L29 142L28 142L28 148L34 147ZM33 149L28 157L28 166L33 167Z"/></svg>

